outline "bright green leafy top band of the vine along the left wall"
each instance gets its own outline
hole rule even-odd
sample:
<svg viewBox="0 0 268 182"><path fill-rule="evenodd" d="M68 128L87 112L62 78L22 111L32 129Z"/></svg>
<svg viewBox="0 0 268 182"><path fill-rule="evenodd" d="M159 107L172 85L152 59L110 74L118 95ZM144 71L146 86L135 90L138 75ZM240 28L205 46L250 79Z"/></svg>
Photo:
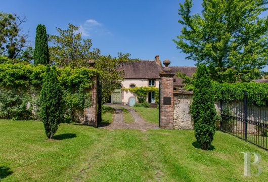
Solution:
<svg viewBox="0 0 268 182"><path fill-rule="evenodd" d="M0 86L10 87L40 87L46 66L31 64L0 64ZM64 88L91 88L92 77L98 74L96 69L87 68L57 68L58 79Z"/></svg>

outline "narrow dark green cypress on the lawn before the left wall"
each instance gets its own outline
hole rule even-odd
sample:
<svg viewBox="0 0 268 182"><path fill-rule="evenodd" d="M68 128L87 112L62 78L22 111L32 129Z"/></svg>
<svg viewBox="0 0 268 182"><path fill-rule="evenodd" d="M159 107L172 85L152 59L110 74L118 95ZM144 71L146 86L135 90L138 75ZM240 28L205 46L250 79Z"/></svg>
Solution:
<svg viewBox="0 0 268 182"><path fill-rule="evenodd" d="M40 118L49 139L56 133L62 119L62 89L57 78L56 67L47 65L41 89Z"/></svg>

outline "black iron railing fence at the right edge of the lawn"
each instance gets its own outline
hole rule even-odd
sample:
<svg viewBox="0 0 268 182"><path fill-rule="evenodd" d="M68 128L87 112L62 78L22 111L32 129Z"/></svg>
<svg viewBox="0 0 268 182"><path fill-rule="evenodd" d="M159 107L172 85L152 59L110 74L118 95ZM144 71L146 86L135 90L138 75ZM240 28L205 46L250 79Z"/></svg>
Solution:
<svg viewBox="0 0 268 182"><path fill-rule="evenodd" d="M268 94L223 95L220 129L265 150L268 135Z"/></svg>

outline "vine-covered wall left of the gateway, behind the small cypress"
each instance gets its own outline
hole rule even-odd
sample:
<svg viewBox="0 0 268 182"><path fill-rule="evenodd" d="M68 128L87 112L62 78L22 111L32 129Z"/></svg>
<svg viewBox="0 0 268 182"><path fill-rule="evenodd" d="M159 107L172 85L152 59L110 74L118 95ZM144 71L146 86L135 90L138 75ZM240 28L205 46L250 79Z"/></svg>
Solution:
<svg viewBox="0 0 268 182"><path fill-rule="evenodd" d="M90 88L96 69L56 68L63 88L64 119L75 121L78 111L91 105ZM38 118L39 94L46 66L0 64L0 118ZM30 111L30 112L29 112Z"/></svg>

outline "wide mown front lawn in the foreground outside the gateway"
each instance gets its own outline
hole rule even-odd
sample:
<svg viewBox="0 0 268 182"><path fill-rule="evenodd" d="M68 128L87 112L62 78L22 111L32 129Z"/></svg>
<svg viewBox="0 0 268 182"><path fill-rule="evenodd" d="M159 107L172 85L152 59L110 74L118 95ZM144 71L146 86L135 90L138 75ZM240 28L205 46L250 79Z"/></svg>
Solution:
<svg viewBox="0 0 268 182"><path fill-rule="evenodd" d="M1 181L266 181L268 152L216 131L203 151L193 130L102 129L62 123L48 140L39 121L0 120ZM261 156L243 177L243 154ZM253 162L253 155L252 161Z"/></svg>

